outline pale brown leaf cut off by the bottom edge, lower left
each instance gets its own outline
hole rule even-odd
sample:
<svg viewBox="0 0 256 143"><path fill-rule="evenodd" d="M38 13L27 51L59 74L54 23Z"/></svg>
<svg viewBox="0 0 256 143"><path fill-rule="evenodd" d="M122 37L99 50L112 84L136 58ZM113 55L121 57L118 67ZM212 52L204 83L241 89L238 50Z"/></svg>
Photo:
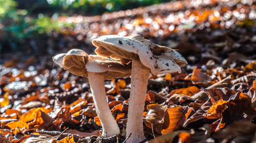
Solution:
<svg viewBox="0 0 256 143"><path fill-rule="evenodd" d="M31 134L23 143L54 143L59 136Z"/></svg>

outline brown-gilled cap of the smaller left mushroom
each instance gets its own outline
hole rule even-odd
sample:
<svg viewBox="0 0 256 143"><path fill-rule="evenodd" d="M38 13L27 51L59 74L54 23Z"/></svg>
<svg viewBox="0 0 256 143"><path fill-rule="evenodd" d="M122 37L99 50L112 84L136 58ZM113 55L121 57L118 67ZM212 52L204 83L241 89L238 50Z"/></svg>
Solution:
<svg viewBox="0 0 256 143"><path fill-rule="evenodd" d="M88 55L78 49L72 49L67 54L58 54L53 57L53 61L81 77L88 77L88 71L102 73L105 79L129 77L131 75L131 65L97 55Z"/></svg>

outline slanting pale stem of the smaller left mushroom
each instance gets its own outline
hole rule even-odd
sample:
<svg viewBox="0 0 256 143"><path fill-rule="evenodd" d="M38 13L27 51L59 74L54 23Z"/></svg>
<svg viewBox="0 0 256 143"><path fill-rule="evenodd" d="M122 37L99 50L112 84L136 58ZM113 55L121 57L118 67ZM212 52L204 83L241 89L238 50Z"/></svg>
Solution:
<svg viewBox="0 0 256 143"><path fill-rule="evenodd" d="M104 86L104 76L99 73L88 72L88 79L93 93L93 101L96 107L100 123L102 125L102 136L111 137L119 134L120 129L113 117L108 101L106 100L106 92Z"/></svg>

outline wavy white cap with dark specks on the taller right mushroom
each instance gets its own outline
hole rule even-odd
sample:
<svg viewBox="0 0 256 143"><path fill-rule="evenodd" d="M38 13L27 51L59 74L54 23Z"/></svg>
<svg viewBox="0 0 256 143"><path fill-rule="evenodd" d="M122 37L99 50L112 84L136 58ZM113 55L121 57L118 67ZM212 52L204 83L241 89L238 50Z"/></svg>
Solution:
<svg viewBox="0 0 256 143"><path fill-rule="evenodd" d="M155 44L140 35L105 35L94 39L92 43L97 46L97 55L118 59L122 63L140 60L144 66L151 69L153 75L175 73L187 64L176 50Z"/></svg>

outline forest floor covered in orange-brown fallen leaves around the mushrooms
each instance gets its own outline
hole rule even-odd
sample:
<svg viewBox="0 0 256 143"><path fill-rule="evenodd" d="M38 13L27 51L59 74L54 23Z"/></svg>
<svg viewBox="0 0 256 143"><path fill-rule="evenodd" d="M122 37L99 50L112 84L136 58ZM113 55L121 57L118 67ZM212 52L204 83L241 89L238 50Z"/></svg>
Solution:
<svg viewBox="0 0 256 143"><path fill-rule="evenodd" d="M250 0L185 0L59 17L75 27L25 39L0 55L0 142L122 142L130 77L105 81L121 134L102 138L87 78L52 61L74 48L93 54L91 41L108 34L140 34L188 61L182 73L149 77L145 141L255 142L255 9Z"/></svg>

